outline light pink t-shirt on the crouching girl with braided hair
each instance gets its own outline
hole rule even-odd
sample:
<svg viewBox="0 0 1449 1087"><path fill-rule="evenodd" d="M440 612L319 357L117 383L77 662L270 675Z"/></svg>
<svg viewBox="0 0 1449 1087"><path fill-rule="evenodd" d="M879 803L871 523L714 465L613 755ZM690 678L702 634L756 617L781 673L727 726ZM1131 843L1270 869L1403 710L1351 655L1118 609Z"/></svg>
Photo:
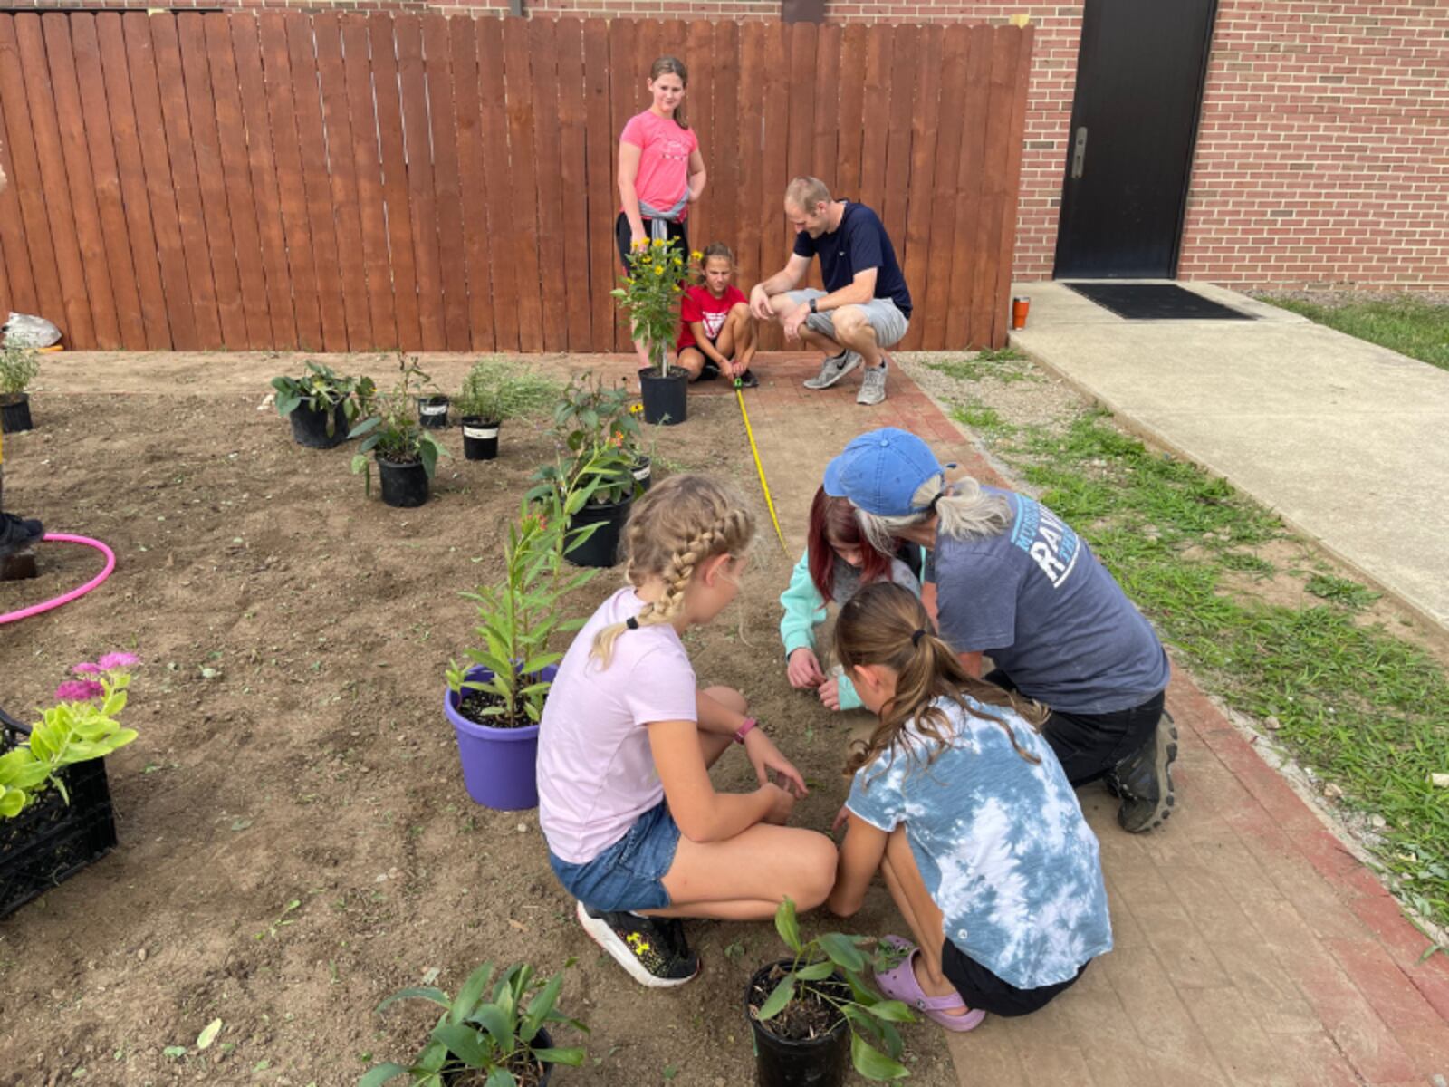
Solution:
<svg viewBox="0 0 1449 1087"><path fill-rule="evenodd" d="M539 826L554 855L584 864L664 799L646 725L696 720L694 668L668 623L625 630L607 668L594 635L643 610L632 588L598 606L568 646L539 723Z"/></svg>

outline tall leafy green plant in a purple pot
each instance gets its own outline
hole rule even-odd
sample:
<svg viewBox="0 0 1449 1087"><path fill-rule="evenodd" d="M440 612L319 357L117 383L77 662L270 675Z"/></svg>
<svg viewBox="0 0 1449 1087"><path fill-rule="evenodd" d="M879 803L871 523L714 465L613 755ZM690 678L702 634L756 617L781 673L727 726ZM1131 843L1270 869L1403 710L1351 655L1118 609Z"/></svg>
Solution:
<svg viewBox="0 0 1449 1087"><path fill-rule="evenodd" d="M565 552L601 528L571 528L569 515L603 478L597 465L585 465L567 490L525 497L503 545L503 577L462 594L478 607L481 644L467 651L467 664L449 661L443 715L458 738L468 796L487 807L538 806L539 722L562 659L549 639L584 625L565 616L564 600L598 572L565 568Z"/></svg>

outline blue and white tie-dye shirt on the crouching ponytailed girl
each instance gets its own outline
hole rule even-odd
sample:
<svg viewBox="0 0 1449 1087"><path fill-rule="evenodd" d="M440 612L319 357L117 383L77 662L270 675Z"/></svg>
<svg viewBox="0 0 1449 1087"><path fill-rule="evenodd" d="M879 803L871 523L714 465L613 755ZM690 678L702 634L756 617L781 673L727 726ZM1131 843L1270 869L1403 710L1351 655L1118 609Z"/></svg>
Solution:
<svg viewBox="0 0 1449 1087"><path fill-rule="evenodd" d="M907 726L910 761L885 752L855 774L846 806L871 826L906 838L926 890L946 917L946 936L1017 988L1066 981L1111 951L1107 888L1097 836L1046 741L1009 709L981 706L1011 723L1011 749L997 720L936 703L952 722L952 745L933 764L935 744Z"/></svg>

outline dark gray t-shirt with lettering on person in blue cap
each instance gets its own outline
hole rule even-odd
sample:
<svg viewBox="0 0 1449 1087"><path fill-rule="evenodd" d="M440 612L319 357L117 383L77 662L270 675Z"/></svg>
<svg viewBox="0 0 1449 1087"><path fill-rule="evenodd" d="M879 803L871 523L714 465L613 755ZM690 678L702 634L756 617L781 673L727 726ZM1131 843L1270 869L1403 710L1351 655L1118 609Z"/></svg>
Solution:
<svg viewBox="0 0 1449 1087"><path fill-rule="evenodd" d="M1071 526L1039 501L984 487L1011 525L984 539L938 535L940 632L985 652L1030 699L1064 713L1113 713L1168 686L1152 625Z"/></svg>

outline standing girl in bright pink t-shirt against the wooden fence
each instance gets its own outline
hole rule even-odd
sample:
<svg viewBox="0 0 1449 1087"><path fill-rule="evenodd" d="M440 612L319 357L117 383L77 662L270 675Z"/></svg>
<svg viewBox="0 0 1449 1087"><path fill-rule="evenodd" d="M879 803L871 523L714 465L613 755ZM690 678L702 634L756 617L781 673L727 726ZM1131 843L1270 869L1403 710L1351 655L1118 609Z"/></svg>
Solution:
<svg viewBox="0 0 1449 1087"><path fill-rule="evenodd" d="M619 136L619 219L614 238L619 258L629 267L629 254L653 238L675 238L688 252L684 220L690 204L704 191L704 158L700 139L684 116L684 93L690 72L674 57L661 57L649 68L653 103L625 125ZM635 341L639 365L652 365L643 341Z"/></svg>

